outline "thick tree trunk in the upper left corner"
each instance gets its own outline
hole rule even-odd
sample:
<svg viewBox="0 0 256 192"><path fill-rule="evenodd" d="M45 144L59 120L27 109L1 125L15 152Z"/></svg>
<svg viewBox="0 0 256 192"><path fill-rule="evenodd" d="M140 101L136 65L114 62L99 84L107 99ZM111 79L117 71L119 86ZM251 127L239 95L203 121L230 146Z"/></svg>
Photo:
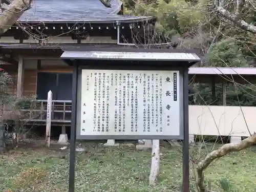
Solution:
<svg viewBox="0 0 256 192"><path fill-rule="evenodd" d="M10 5L2 8L0 15L0 35L5 33L30 8L32 0L14 0Z"/></svg>

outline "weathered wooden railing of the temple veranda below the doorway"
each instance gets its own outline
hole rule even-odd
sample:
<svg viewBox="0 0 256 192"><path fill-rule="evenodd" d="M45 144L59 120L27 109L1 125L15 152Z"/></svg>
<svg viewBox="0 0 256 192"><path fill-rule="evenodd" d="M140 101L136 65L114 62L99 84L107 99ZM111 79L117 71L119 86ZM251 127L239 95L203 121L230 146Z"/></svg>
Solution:
<svg viewBox="0 0 256 192"><path fill-rule="evenodd" d="M47 119L47 100L36 100L35 107L31 110L22 110L27 112L26 121L46 122ZM51 121L52 123L70 123L71 122L71 100L52 100Z"/></svg>

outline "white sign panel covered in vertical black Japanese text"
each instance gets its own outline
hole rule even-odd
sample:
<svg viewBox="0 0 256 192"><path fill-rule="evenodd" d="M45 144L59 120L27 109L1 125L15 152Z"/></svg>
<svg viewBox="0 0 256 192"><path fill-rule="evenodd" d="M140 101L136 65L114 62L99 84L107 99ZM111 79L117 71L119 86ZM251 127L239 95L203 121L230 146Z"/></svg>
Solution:
<svg viewBox="0 0 256 192"><path fill-rule="evenodd" d="M82 70L80 135L180 135L179 71Z"/></svg>

